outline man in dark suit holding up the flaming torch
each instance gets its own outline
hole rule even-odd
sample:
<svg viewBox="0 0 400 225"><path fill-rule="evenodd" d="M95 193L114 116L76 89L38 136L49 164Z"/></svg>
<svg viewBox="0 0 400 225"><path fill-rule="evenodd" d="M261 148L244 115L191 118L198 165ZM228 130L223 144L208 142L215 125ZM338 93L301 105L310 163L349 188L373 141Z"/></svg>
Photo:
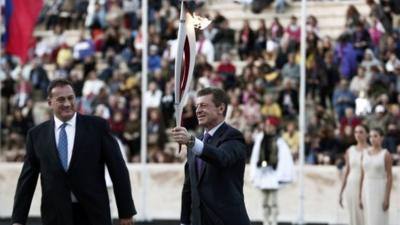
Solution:
<svg viewBox="0 0 400 225"><path fill-rule="evenodd" d="M229 98L219 88L197 93L196 115L204 134L195 138L183 127L172 130L187 145L181 223L250 225L243 195L246 149L243 135L224 122Z"/></svg>

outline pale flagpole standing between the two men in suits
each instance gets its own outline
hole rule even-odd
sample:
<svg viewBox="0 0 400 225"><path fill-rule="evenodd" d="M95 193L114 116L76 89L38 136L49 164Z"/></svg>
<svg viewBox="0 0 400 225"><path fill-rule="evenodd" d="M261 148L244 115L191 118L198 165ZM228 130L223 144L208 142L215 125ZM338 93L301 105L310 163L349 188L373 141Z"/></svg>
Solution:
<svg viewBox="0 0 400 225"><path fill-rule="evenodd" d="M147 91L147 73L148 73L148 0L142 1L142 107L141 107L141 140L140 140L140 161L141 161L141 218L148 221L147 214L147 106L145 102L145 93Z"/></svg>

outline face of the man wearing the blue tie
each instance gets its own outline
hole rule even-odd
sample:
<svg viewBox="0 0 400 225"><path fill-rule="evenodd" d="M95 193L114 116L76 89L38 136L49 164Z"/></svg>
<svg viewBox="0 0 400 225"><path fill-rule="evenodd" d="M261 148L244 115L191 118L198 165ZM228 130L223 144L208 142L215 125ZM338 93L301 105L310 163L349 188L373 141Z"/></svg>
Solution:
<svg viewBox="0 0 400 225"><path fill-rule="evenodd" d="M61 121L70 120L75 113L75 93L71 86L57 86L51 90L48 104Z"/></svg>

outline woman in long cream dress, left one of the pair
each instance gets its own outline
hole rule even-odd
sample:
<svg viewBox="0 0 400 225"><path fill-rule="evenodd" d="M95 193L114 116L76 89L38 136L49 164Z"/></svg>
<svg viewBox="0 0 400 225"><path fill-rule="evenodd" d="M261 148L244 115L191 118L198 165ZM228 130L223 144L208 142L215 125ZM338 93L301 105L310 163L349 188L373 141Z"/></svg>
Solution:
<svg viewBox="0 0 400 225"><path fill-rule="evenodd" d="M354 137L357 141L356 145L350 146L346 151L345 175L340 190L339 204L343 208L344 202L349 214L350 225L364 225L363 214L360 209L359 191L361 180L361 156L369 147L367 143L368 128L358 125L354 129Z"/></svg>

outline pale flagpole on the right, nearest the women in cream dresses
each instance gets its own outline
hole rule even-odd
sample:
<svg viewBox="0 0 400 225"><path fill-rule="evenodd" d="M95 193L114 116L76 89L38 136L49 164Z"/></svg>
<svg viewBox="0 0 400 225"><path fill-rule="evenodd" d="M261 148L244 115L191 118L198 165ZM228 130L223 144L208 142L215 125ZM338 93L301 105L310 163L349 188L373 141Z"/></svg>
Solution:
<svg viewBox="0 0 400 225"><path fill-rule="evenodd" d="M304 224L304 135L305 129L305 93L306 93L306 4L307 0L301 0L301 42L300 42L300 112L299 112L299 214L297 224Z"/></svg>

